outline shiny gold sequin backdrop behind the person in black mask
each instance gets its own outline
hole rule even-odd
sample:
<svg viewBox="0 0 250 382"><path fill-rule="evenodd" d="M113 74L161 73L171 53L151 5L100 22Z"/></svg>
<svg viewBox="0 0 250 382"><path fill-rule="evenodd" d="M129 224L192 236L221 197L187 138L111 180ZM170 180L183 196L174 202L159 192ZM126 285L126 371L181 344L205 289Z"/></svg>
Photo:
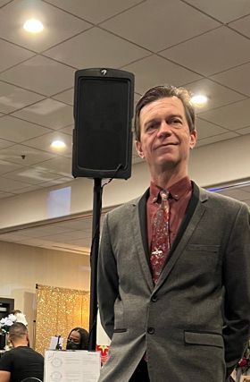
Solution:
<svg viewBox="0 0 250 382"><path fill-rule="evenodd" d="M53 335L66 339L73 327L88 330L89 292L37 285L35 349L44 354Z"/></svg>

